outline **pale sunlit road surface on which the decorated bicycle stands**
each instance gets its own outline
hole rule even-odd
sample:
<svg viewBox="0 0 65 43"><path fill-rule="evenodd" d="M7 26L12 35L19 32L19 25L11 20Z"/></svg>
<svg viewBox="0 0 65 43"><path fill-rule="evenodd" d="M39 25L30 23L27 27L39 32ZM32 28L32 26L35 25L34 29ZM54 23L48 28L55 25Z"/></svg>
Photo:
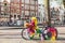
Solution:
<svg viewBox="0 0 65 43"><path fill-rule="evenodd" d="M5 27L4 27L5 28ZM64 27L56 27L58 30L58 38L65 38ZM1 29L0 28L0 43L65 43L65 40L40 41L40 40L24 40L21 35L22 29Z"/></svg>

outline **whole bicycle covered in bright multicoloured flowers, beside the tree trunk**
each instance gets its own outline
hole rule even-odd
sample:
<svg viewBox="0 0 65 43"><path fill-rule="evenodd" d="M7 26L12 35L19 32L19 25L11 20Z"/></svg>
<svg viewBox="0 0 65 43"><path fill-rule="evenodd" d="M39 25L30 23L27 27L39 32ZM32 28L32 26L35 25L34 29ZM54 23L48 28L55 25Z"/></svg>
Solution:
<svg viewBox="0 0 65 43"><path fill-rule="evenodd" d="M39 28L36 17L31 17L30 23L26 23L26 29L22 31L22 38L27 40L56 40L57 30L54 27L47 26L44 29Z"/></svg>

